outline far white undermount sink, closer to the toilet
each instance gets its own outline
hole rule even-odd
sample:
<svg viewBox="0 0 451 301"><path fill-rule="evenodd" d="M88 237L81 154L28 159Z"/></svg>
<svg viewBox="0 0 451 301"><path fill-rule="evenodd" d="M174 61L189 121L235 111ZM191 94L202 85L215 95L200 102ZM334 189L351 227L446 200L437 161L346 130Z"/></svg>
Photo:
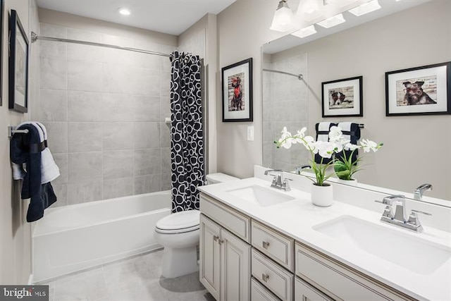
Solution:
<svg viewBox="0 0 451 301"><path fill-rule="evenodd" d="M255 202L261 207L281 204L283 202L288 202L295 199L290 195L284 195L283 193L273 191L269 188L263 188L258 185L228 190L228 192L231 195L235 195L235 197L240 197L240 199L246 199L247 201Z"/></svg>

